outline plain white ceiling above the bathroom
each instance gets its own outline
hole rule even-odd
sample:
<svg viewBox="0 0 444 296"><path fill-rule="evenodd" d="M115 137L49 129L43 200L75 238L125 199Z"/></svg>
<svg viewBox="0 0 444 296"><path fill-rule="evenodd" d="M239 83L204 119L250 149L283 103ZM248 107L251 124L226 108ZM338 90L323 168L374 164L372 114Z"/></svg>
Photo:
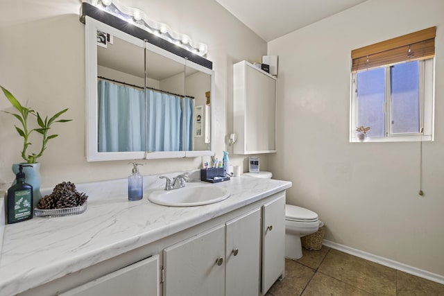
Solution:
<svg viewBox="0 0 444 296"><path fill-rule="evenodd" d="M367 0L216 0L266 42Z"/></svg>

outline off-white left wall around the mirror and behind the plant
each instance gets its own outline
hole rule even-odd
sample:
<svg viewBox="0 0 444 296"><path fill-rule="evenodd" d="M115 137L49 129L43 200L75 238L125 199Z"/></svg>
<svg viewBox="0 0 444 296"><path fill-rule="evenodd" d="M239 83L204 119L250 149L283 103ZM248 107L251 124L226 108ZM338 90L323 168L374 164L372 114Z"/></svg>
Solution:
<svg viewBox="0 0 444 296"><path fill-rule="evenodd" d="M208 45L213 62L215 94L216 156L226 150L225 134L232 127L232 64L252 62L266 54L266 42L235 19L216 1L207 0L121 0L140 8L148 17L169 24L193 40ZM78 0L1 1L0 85L19 101L42 114L55 114L69 108L69 123L53 125L59 137L49 141L39 162L42 187L58 182L75 183L126 177L128 161L92 162L85 160L85 26L78 20ZM0 94L0 110L14 111ZM11 166L21 162L22 138L16 119L0 112L0 184L12 182ZM33 144L37 146L37 143ZM238 162L242 162L238 157ZM187 171L200 166L193 159L155 159L142 161L144 175ZM236 157L232 158L236 162ZM239 163L240 164L240 163ZM1 189L0 189L1 191Z"/></svg>

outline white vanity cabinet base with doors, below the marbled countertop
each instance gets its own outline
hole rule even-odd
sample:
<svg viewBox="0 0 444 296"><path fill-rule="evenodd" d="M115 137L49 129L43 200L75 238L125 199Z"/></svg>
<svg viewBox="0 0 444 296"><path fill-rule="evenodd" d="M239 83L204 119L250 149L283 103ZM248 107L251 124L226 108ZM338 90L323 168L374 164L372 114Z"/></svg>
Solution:
<svg viewBox="0 0 444 296"><path fill-rule="evenodd" d="M284 207L282 190L18 295L265 295L284 276Z"/></svg>

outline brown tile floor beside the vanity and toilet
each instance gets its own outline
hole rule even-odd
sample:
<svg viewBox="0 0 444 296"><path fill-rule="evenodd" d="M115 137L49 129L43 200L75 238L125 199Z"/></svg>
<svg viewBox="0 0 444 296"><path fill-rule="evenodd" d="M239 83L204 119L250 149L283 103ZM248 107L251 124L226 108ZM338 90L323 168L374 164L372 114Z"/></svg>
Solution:
<svg viewBox="0 0 444 296"><path fill-rule="evenodd" d="M444 285L323 246L286 259L285 278L266 296L444 295Z"/></svg>

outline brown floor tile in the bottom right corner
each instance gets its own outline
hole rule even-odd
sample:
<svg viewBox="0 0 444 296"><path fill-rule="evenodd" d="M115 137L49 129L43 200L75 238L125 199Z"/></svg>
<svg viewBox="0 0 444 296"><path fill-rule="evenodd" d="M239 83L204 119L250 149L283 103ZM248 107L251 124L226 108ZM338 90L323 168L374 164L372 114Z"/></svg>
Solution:
<svg viewBox="0 0 444 296"><path fill-rule="evenodd" d="M401 296L432 296L432 295L444 295L444 285L429 281L428 279L422 279L408 273L397 271L397 284L398 295Z"/></svg>

